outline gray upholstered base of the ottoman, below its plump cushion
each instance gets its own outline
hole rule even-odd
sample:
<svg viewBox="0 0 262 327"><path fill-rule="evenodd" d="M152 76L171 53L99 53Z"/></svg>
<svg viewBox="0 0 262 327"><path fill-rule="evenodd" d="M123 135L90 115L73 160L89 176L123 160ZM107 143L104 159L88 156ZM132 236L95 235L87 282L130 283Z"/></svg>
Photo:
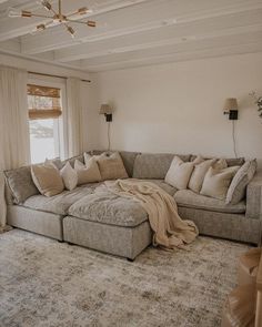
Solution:
<svg viewBox="0 0 262 327"><path fill-rule="evenodd" d="M134 259L151 244L152 232L148 221L135 227L122 227L67 216L63 237L69 243Z"/></svg>

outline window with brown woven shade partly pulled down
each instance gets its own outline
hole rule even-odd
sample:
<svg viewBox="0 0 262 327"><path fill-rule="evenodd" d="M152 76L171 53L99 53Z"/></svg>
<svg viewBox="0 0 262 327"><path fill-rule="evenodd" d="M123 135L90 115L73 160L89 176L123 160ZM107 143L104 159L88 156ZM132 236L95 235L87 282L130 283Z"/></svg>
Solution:
<svg viewBox="0 0 262 327"><path fill-rule="evenodd" d="M28 105L31 162L40 163L61 154L61 90L29 84Z"/></svg>

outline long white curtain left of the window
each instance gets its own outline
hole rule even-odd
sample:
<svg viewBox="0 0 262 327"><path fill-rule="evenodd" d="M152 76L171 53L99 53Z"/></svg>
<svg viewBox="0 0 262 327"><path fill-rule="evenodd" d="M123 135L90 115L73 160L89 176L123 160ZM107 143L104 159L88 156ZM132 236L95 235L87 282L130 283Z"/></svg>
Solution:
<svg viewBox="0 0 262 327"><path fill-rule="evenodd" d="M27 71L0 65L0 231L7 223L2 171L30 161L27 81Z"/></svg>

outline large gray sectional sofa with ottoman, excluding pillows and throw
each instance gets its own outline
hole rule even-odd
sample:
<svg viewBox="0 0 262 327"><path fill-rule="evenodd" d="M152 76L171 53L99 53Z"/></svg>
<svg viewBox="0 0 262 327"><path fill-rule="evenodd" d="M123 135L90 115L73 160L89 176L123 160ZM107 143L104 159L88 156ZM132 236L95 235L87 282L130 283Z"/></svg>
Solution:
<svg viewBox="0 0 262 327"><path fill-rule="evenodd" d="M99 154L101 152L93 152ZM246 198L235 205L178 191L164 183L174 154L120 152L130 177L151 181L178 203L182 218L192 219L203 235L260 244L262 229L262 174L248 185ZM180 155L183 161L193 159ZM83 156L75 159L83 162ZM228 160L228 165L244 160ZM82 185L73 191L46 197L34 186L30 166L6 172L8 224L58 241L87 246L134 259L151 244L148 215L134 201L119 197L102 183Z"/></svg>

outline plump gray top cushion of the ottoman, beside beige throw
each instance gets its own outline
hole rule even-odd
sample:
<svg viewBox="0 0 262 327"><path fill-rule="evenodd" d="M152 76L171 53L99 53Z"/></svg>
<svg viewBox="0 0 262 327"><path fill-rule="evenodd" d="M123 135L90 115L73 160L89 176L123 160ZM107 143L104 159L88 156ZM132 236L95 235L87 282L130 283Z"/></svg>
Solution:
<svg viewBox="0 0 262 327"><path fill-rule="evenodd" d="M134 227L148 219L147 212L138 201L118 196L105 186L75 202L69 208L69 215L123 227Z"/></svg>

